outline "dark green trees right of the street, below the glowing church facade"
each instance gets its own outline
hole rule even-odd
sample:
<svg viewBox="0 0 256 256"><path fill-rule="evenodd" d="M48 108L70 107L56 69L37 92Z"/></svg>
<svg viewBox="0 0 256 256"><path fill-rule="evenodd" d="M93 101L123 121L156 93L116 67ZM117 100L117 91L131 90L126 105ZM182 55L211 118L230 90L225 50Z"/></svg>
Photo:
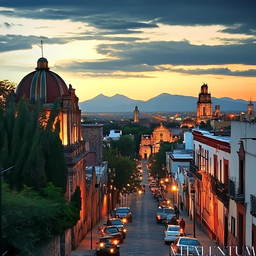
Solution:
<svg viewBox="0 0 256 256"><path fill-rule="evenodd" d="M158 174L158 178L165 177L165 166L166 166L166 153L172 151L172 143L164 142L161 144L161 148L159 152L153 155L153 161L151 166L152 175L156 176Z"/></svg>

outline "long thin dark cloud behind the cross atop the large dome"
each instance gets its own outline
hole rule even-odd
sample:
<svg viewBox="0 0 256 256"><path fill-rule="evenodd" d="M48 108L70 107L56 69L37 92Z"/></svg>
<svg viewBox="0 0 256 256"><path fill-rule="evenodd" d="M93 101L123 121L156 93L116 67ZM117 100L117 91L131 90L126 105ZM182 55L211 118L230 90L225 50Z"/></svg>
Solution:
<svg viewBox="0 0 256 256"><path fill-rule="evenodd" d="M10 52L15 50L32 49L40 40L44 40L45 44L68 44L79 40L107 40L107 41L123 41L132 42L145 40L147 38L140 37L108 37L108 36L69 36L69 37L53 37L46 36L22 36L22 35L0 35L0 52Z"/></svg>

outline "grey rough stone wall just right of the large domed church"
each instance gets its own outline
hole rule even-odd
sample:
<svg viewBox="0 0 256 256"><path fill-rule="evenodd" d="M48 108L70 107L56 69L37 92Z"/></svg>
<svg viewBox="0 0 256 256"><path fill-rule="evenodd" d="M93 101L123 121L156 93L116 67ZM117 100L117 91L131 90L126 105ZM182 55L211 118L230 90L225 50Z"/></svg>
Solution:
<svg viewBox="0 0 256 256"><path fill-rule="evenodd" d="M82 138L90 142L90 151L96 151L96 162L103 158L103 124L82 124Z"/></svg>

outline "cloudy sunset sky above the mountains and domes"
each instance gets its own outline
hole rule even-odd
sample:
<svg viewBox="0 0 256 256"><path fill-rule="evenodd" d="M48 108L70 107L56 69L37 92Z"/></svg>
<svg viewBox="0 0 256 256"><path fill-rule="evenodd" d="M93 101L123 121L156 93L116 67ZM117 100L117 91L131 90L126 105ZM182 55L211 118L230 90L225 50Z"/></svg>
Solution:
<svg viewBox="0 0 256 256"><path fill-rule="evenodd" d="M0 1L0 80L41 57L76 89L148 100L161 93L256 99L256 2Z"/></svg>

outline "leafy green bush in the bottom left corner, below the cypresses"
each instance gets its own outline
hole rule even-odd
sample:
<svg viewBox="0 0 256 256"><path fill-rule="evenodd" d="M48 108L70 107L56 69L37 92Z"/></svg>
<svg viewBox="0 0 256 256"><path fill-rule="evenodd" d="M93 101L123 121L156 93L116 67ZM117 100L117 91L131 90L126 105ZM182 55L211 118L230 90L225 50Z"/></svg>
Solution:
<svg viewBox="0 0 256 256"><path fill-rule="evenodd" d="M2 182L3 251L35 255L40 242L76 225L79 212L73 202L67 204L62 189L51 183L39 193L26 186L17 192Z"/></svg>

